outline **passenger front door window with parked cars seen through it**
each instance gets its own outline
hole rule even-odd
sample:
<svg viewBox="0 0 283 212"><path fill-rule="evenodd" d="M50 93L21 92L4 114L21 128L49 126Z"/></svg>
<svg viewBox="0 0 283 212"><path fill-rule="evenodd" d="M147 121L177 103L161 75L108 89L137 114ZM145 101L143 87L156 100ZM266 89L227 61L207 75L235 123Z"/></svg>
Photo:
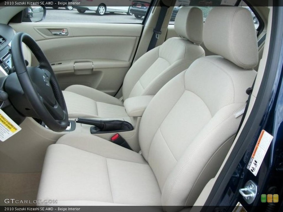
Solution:
<svg viewBox="0 0 283 212"><path fill-rule="evenodd" d="M142 23L151 0L61 0L47 5L43 22ZM60 5L59 5L60 4Z"/></svg>

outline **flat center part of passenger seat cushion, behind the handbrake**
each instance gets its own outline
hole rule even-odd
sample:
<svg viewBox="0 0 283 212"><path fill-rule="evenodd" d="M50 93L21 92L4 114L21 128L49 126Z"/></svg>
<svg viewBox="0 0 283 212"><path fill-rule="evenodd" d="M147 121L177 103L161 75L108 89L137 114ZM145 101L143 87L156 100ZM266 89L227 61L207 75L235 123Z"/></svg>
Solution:
<svg viewBox="0 0 283 212"><path fill-rule="evenodd" d="M92 88L90 89L95 90ZM70 91L62 91L62 92L67 105L69 118L128 117L124 106L95 101L89 97L86 97L88 95L80 95L75 92L70 92Z"/></svg>

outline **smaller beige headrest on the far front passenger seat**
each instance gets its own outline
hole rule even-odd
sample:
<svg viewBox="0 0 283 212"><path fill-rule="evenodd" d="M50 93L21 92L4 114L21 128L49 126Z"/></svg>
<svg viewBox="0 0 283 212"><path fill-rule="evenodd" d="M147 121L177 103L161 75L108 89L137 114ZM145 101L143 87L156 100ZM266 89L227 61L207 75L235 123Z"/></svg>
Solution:
<svg viewBox="0 0 283 212"><path fill-rule="evenodd" d="M180 37L195 44L203 42L203 11L198 7L183 6L175 18L175 31Z"/></svg>

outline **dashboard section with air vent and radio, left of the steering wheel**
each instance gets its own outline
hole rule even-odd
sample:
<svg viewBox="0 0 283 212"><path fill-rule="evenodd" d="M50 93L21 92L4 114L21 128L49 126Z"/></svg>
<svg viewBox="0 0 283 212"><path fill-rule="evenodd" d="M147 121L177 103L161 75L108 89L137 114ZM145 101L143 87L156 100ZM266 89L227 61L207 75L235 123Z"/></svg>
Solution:
<svg viewBox="0 0 283 212"><path fill-rule="evenodd" d="M14 72L11 53L11 41L14 34L13 28L9 25L0 24L0 77Z"/></svg>

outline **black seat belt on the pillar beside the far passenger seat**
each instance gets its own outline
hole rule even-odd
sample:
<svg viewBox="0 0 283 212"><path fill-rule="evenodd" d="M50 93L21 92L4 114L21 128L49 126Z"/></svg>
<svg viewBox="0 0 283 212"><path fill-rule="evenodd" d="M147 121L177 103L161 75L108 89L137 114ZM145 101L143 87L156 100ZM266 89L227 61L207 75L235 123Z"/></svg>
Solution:
<svg viewBox="0 0 283 212"><path fill-rule="evenodd" d="M156 26L153 29L153 34L152 34L151 40L149 42L147 52L155 47L157 40L159 39L159 35L162 33L161 27L162 27L164 18L166 16L167 9L169 8L169 6L166 6L162 1L159 1L159 4L161 6L161 9L160 9L160 13L159 13L159 16L158 16L158 19L157 19Z"/></svg>

